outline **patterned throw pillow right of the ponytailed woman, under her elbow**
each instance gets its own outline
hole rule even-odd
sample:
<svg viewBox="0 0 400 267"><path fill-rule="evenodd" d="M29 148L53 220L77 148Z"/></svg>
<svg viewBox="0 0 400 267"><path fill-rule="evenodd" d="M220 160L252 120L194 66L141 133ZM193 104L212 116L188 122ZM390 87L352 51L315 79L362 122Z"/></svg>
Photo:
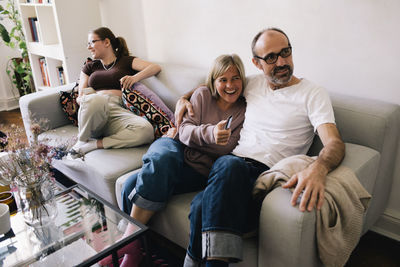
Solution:
<svg viewBox="0 0 400 267"><path fill-rule="evenodd" d="M135 83L130 89L124 89L122 100L127 109L146 118L153 125L155 138L175 127L174 113L144 84Z"/></svg>

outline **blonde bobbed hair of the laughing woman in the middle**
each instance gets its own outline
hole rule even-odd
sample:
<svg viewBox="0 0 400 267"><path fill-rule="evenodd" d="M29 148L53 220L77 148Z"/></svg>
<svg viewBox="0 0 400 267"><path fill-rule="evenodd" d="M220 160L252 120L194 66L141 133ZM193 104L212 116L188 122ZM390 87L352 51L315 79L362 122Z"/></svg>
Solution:
<svg viewBox="0 0 400 267"><path fill-rule="evenodd" d="M240 57L236 54L231 55L221 55L214 60L213 65L207 76L206 85L210 89L211 94L218 98L217 89L214 86L214 81L222 76L231 66L236 67L239 72L239 76L242 80L242 88L244 91L244 86L246 84L246 74L244 72L243 62ZM242 92L243 92L242 91Z"/></svg>

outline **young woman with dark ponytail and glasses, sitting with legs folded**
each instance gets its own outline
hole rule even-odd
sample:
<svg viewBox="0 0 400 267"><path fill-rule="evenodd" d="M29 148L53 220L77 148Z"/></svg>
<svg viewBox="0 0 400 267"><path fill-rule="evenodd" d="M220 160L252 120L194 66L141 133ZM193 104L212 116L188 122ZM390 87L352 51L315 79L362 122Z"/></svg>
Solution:
<svg viewBox="0 0 400 267"><path fill-rule="evenodd" d="M89 32L93 61L80 74L77 157L98 148L123 148L150 143L153 127L122 106L122 89L161 71L159 65L130 56L125 39L101 27Z"/></svg>

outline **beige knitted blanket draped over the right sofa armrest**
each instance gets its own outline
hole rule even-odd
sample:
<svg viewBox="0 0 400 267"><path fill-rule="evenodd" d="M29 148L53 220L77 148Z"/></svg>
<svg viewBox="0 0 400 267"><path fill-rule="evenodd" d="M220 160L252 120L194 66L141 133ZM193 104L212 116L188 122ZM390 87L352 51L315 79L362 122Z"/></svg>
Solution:
<svg viewBox="0 0 400 267"><path fill-rule="evenodd" d="M258 177L253 190L255 199L262 201L268 192L314 160L306 155L281 160ZM328 174L325 201L321 210L316 211L318 253L325 266L345 265L359 241L370 199L351 169L339 166Z"/></svg>

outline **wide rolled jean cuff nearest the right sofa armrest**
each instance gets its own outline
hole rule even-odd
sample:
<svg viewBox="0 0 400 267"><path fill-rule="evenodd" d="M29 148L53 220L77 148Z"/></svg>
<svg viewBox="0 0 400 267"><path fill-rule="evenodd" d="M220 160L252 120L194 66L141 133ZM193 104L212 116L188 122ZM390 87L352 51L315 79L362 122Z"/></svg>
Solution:
<svg viewBox="0 0 400 267"><path fill-rule="evenodd" d="M226 258L231 262L243 259L242 237L228 232L203 232L203 259Z"/></svg>

